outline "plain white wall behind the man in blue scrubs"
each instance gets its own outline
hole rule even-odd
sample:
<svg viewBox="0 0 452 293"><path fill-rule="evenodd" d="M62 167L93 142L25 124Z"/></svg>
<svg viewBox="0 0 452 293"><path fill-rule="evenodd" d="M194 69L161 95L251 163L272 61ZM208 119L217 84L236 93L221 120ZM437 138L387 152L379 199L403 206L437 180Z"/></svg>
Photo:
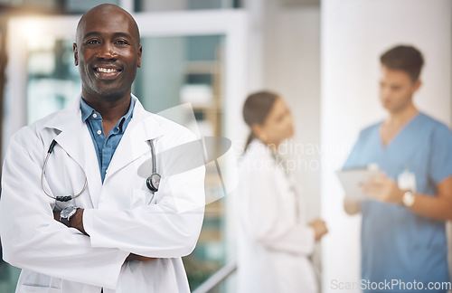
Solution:
<svg viewBox="0 0 452 293"><path fill-rule="evenodd" d="M337 291L333 279L360 278L360 218L344 214L344 194L333 172L343 165L359 130L384 117L379 56L399 43L418 47L426 66L415 103L450 125L451 10L449 0L322 2L321 139L323 147L335 150L323 156L322 211L331 231L323 246L324 292Z"/></svg>

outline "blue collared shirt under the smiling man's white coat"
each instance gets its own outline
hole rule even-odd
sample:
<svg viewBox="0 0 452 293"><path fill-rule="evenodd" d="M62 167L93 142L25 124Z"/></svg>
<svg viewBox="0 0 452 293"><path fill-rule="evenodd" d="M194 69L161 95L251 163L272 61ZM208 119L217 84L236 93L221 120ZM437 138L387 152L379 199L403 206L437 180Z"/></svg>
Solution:
<svg viewBox="0 0 452 293"><path fill-rule="evenodd" d="M108 132L108 135L105 136L104 128L102 127L102 117L100 116L99 112L89 107L89 105L83 99L81 99L81 120L83 121L83 123L86 123L89 129L89 134L92 138L92 142L94 143L94 147L96 148L102 183L104 182L111 158L113 157L113 154L115 154L115 150L118 147L119 141L124 135L128 123L132 119L134 108L135 99L132 98L130 101L130 107L126 115L121 117L118 120L118 124L114 128L111 128L111 130Z"/></svg>

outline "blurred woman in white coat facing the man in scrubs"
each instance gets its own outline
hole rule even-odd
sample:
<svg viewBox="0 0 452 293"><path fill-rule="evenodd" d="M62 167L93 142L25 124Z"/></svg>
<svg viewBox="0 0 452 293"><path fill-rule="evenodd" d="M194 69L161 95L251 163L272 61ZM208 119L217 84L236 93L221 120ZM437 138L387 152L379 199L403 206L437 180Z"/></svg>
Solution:
<svg viewBox="0 0 452 293"><path fill-rule="evenodd" d="M294 134L283 99L260 91L243 107L250 137L240 160L238 198L239 292L318 292L310 256L327 232L325 222L306 222L296 179L278 146Z"/></svg>

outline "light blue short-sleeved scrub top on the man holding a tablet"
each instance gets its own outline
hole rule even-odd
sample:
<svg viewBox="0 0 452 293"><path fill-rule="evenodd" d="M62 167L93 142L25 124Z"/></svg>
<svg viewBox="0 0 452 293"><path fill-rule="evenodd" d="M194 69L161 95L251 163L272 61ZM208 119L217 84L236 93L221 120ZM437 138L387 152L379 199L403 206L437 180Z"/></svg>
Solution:
<svg viewBox="0 0 452 293"><path fill-rule="evenodd" d="M452 175L450 129L418 113L384 147L380 127L381 122L363 129L344 169L378 164L396 182L398 175L409 169L416 176L417 193L436 194L436 185ZM364 292L446 292L425 290L429 282L450 280L445 222L419 216L399 204L373 200L363 201L361 212L363 280L416 280L424 288L409 290L400 285L391 290L367 288Z"/></svg>

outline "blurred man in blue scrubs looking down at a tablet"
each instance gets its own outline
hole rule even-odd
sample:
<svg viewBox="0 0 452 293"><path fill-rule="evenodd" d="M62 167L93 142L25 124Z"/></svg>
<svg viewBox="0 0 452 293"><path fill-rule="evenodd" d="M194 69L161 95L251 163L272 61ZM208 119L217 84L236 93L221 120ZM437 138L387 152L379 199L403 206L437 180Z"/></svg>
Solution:
<svg viewBox="0 0 452 293"><path fill-rule="evenodd" d="M452 220L452 133L419 111L424 61L410 46L381 55L383 121L363 129L344 169L376 164L363 184L369 200L345 201L362 213L364 292L447 292L446 221Z"/></svg>

